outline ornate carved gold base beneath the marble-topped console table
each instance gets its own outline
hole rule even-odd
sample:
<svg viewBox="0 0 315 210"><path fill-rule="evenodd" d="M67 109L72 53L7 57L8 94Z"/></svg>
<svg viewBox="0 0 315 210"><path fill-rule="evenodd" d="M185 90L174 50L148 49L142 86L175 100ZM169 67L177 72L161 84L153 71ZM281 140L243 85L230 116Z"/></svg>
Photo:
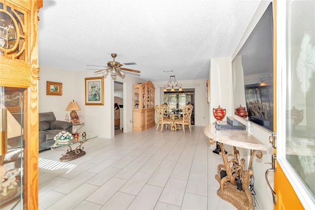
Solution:
<svg viewBox="0 0 315 210"><path fill-rule="evenodd" d="M210 143L214 143L210 139ZM239 210L254 210L252 193L249 189L249 184L251 181L251 175L253 171L251 170L252 158L255 152L257 152L256 157L262 158L262 152L260 150L252 150L250 162L248 168L245 166L245 159L242 158L239 161L239 151L233 146L234 154L225 154L223 144L221 142L217 143L220 145L224 165L220 164L218 166L218 174L215 176L217 181L220 183L220 188L217 191L217 195L233 204ZM221 171L226 172L226 176L221 178ZM242 189L237 189L237 182L242 183Z"/></svg>

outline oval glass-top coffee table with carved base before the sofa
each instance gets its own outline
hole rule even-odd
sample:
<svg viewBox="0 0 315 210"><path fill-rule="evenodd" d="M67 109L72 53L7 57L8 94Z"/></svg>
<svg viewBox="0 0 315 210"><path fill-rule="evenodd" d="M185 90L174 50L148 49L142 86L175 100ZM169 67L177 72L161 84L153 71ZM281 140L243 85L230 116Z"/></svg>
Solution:
<svg viewBox="0 0 315 210"><path fill-rule="evenodd" d="M61 162L66 162L66 161L70 161L70 160L74 160L77 159L83 155L85 155L85 151L83 151L84 147L82 146L83 143L85 143L87 140L96 138L98 135L97 134L88 134L85 137L77 137L74 138L72 140L69 140L66 143L60 143L58 140L48 140L42 144L40 144L40 146L44 147L44 148L50 148L51 150L60 150L60 151L64 151L64 153L61 155L61 158L59 159ZM79 143L79 145L75 148L72 149L71 145ZM65 149L56 149L62 146L68 146L69 148L67 150Z"/></svg>

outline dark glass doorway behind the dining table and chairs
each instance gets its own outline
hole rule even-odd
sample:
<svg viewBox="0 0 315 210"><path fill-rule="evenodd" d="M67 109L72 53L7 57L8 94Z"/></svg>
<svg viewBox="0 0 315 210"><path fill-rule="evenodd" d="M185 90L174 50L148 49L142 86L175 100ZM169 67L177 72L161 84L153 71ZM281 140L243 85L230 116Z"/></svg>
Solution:
<svg viewBox="0 0 315 210"><path fill-rule="evenodd" d="M183 89L181 92L163 92L163 103L167 103L169 112L181 112L186 105L195 104L195 89ZM191 113L191 125L195 124L194 107Z"/></svg>

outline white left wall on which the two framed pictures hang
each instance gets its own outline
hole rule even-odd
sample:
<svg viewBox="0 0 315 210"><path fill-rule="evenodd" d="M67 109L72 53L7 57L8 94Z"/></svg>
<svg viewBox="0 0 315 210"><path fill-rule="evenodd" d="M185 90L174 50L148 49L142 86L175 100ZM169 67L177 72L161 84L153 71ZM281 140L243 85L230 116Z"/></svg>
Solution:
<svg viewBox="0 0 315 210"><path fill-rule="evenodd" d="M58 120L64 120L66 107L74 100L81 107L78 114L83 115L85 125L82 131L96 133L102 138L114 137L114 81L110 76L104 79L104 105L85 105L85 78L96 77L91 71L73 72L47 66L40 66L38 83L39 112L53 111ZM46 81L63 83L62 96L47 96ZM138 77L127 75L116 81L124 83L124 132L132 131L132 96L133 84L143 82Z"/></svg>

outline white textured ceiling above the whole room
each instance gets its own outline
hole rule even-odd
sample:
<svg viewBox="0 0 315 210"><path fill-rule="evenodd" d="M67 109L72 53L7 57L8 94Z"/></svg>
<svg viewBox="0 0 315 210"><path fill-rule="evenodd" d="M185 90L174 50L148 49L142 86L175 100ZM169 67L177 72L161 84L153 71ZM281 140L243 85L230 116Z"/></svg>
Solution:
<svg viewBox="0 0 315 210"><path fill-rule="evenodd" d="M210 59L230 57L260 0L44 0L39 64L81 71L117 53L139 77L208 77ZM173 72L164 73L173 70ZM93 75L94 70L91 71Z"/></svg>

